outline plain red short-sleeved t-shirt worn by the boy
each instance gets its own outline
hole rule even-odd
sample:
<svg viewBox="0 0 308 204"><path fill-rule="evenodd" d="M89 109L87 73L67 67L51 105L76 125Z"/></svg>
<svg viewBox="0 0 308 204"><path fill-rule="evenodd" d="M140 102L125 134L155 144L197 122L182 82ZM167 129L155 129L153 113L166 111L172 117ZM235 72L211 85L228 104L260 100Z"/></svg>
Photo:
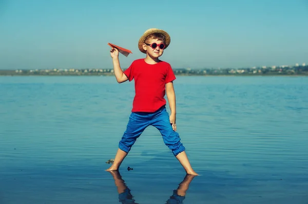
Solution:
<svg viewBox="0 0 308 204"><path fill-rule="evenodd" d="M132 112L155 112L165 105L166 83L176 79L169 63L148 64L144 59L134 60L124 74L129 81L134 79Z"/></svg>

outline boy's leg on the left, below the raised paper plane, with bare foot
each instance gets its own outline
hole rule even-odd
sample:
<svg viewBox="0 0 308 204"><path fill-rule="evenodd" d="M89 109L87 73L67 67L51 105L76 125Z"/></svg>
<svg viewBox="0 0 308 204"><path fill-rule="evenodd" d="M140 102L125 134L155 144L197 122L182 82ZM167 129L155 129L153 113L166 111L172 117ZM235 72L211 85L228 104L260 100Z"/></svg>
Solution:
<svg viewBox="0 0 308 204"><path fill-rule="evenodd" d="M125 156L131 149L131 146L140 137L144 129L149 125L149 121L144 117L139 117L134 112L131 113L126 130L119 142L119 149L114 157L114 162L106 171L118 170Z"/></svg>

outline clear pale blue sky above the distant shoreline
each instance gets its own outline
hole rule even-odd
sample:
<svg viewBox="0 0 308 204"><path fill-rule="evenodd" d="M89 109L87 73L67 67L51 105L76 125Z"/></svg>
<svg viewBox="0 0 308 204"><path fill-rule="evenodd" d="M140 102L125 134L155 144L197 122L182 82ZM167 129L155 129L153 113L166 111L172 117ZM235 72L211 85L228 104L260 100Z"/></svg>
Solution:
<svg viewBox="0 0 308 204"><path fill-rule="evenodd" d="M110 68L108 42L125 69L149 28L174 68L308 63L308 0L0 0L0 69Z"/></svg>

